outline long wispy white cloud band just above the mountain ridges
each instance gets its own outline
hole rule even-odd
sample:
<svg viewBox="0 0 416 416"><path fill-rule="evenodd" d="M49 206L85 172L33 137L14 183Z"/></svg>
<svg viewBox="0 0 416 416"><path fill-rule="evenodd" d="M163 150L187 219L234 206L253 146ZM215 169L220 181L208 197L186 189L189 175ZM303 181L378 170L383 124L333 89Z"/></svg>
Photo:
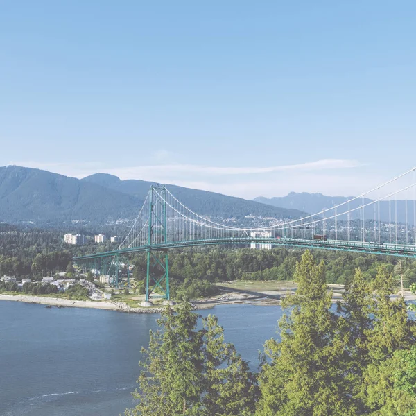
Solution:
<svg viewBox="0 0 416 416"><path fill-rule="evenodd" d="M356 160L322 159L303 164L281 166L202 166L163 164L168 153L155 154L160 162L148 166L111 167L101 162L38 163L14 162L20 166L41 168L73 177L92 173L110 173L122 180L141 179L164 184L204 189L242 198L282 196L288 192L321 192L329 195L353 195L363 191L363 179L356 168L365 166ZM367 179L374 180L373 177Z"/></svg>

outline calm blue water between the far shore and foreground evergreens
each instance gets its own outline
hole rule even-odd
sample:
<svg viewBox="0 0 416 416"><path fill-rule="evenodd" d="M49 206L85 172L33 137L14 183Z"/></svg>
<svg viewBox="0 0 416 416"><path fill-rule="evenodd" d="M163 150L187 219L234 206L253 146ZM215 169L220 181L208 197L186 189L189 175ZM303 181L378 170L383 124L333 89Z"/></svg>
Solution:
<svg viewBox="0 0 416 416"><path fill-rule="evenodd" d="M253 370L275 335L279 306L223 305L215 313ZM117 416L134 405L140 349L154 314L0 302L1 416Z"/></svg>

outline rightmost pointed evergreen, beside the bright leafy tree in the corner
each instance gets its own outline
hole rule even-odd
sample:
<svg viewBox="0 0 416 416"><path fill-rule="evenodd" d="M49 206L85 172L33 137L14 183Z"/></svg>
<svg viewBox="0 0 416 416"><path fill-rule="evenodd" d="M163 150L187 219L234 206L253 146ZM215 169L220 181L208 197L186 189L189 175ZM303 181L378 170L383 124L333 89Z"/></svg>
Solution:
<svg viewBox="0 0 416 416"><path fill-rule="evenodd" d="M367 413L399 416L416 407L415 398L397 385L400 354L415 343L415 323L408 319L403 297L391 300L392 275L380 267L372 288L374 315L372 328L365 331L368 365L363 371L363 382L358 397L367 406Z"/></svg>

